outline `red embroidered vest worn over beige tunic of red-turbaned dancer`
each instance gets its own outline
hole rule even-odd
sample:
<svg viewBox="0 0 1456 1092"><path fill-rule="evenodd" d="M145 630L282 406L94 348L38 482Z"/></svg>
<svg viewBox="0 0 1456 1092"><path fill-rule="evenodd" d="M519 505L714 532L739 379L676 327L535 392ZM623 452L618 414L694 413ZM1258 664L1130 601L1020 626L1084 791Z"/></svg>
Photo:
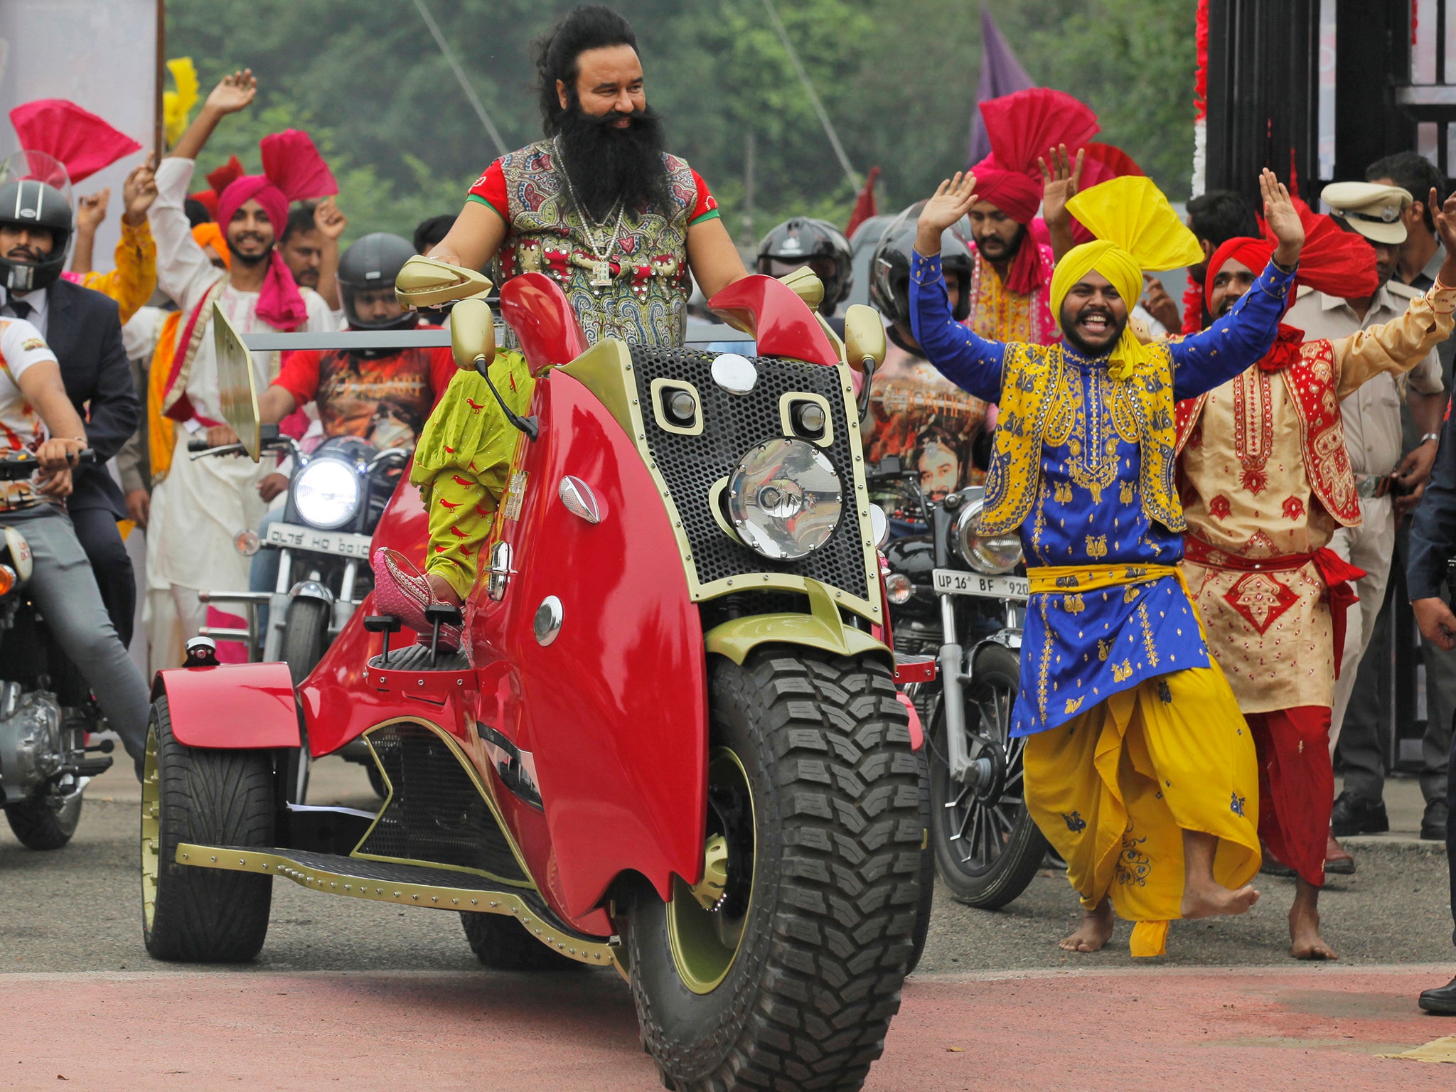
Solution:
<svg viewBox="0 0 1456 1092"><path fill-rule="evenodd" d="M1329 341L1306 341L1299 347L1299 360L1280 368L1280 373L1299 416L1300 450L1310 491L1335 523L1354 527L1360 523L1360 498L1350 451L1345 450L1340 399L1335 396L1335 348ZM1203 416L1207 397L1200 395L1178 403L1178 451L1182 451Z"/></svg>

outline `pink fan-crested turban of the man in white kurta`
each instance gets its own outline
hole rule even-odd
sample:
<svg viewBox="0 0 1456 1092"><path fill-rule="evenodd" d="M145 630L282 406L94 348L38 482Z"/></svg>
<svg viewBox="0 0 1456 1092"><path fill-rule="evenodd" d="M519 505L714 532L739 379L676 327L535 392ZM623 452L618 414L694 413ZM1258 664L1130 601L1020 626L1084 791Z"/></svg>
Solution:
<svg viewBox="0 0 1456 1092"><path fill-rule="evenodd" d="M262 150L264 173L243 175L227 185L217 198L217 223L226 233L237 210L248 201L256 201L272 224L274 239L281 239L288 226L290 201L338 194L339 188L307 132L275 132L258 141L258 147ZM293 272L277 249L258 296L258 317L281 329L293 329L309 317Z"/></svg>

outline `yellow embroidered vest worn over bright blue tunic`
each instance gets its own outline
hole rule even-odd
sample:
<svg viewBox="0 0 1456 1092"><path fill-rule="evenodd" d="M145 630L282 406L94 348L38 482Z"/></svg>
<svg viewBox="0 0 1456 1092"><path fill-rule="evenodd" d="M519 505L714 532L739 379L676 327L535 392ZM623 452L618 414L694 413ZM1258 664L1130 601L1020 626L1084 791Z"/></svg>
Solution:
<svg viewBox="0 0 1456 1092"><path fill-rule="evenodd" d="M1150 345L1149 363L1112 384L1114 414L1131 414L1142 453L1139 494L1143 513L1171 531L1185 530L1174 483L1178 453L1174 432L1174 358L1166 345ZM1000 419L986 472L981 534L1005 534L1025 523L1041 485L1041 446L1053 416L1072 411L1073 368L1060 345L1006 347ZM1080 386L1080 384L1079 384Z"/></svg>

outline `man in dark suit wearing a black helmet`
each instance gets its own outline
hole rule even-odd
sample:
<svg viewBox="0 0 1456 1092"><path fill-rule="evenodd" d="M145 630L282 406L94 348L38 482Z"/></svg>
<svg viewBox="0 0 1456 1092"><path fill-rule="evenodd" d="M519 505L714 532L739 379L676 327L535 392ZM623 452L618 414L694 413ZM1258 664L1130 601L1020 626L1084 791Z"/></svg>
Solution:
<svg viewBox="0 0 1456 1092"><path fill-rule="evenodd" d="M61 364L66 393L86 421L96 464L76 469L66 510L125 645L137 579L116 530L127 507L103 463L135 431L140 405L116 303L60 277L70 233L71 210L60 191L33 181L0 186L0 316L35 323Z"/></svg>

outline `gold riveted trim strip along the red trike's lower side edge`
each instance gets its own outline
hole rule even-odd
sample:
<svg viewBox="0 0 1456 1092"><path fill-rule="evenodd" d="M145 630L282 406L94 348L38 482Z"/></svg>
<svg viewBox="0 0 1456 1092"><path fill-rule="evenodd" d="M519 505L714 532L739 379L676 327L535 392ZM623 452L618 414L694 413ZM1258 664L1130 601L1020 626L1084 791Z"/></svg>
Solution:
<svg viewBox="0 0 1456 1092"><path fill-rule="evenodd" d="M226 850L220 846L197 846L191 842L183 842L178 846L176 862L192 868L217 868L226 872L264 872L291 879L298 887L307 887L313 891L348 895L351 898L368 898L376 903L422 906L431 910L507 914L518 919L537 941L569 960L593 967L607 967L616 962L616 954L610 943L558 935L556 929L550 923L543 922L526 900L508 891L473 891L440 884L397 884L365 879L361 877L348 877L341 872L304 868L297 860L281 853Z"/></svg>

